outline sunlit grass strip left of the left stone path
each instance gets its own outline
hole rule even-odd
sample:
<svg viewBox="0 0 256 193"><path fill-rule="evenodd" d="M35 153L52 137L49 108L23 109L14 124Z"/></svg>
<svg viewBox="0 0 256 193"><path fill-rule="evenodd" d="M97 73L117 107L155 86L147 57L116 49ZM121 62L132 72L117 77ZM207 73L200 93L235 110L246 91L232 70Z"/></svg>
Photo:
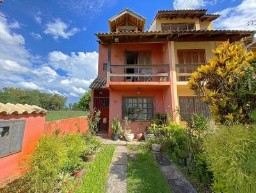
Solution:
<svg viewBox="0 0 256 193"><path fill-rule="evenodd" d="M109 168L115 146L102 146L95 159L86 166L86 174L74 192L106 192Z"/></svg>

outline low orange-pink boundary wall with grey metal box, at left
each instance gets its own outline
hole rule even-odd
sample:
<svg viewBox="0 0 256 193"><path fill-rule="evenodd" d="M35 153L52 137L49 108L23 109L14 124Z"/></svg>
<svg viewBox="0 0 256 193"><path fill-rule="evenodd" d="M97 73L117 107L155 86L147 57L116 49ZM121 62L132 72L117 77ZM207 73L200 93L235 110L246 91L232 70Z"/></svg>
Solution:
<svg viewBox="0 0 256 193"><path fill-rule="evenodd" d="M52 135L56 130L60 130L61 134L76 133L78 130L82 133L88 131L87 116L45 123L45 114L12 114L8 116L0 114L0 121L7 120L25 120L26 123L22 150L19 153L0 158L0 188L24 174L20 170L20 164L35 150L42 135Z"/></svg>

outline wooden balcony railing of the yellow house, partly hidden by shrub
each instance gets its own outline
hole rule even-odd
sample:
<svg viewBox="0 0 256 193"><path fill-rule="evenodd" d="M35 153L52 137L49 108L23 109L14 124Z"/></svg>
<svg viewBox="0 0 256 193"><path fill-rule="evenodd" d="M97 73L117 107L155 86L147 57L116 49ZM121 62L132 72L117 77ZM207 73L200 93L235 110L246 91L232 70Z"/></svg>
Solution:
<svg viewBox="0 0 256 193"><path fill-rule="evenodd" d="M176 77L178 82L189 81L191 73L197 70L199 64L176 65Z"/></svg>

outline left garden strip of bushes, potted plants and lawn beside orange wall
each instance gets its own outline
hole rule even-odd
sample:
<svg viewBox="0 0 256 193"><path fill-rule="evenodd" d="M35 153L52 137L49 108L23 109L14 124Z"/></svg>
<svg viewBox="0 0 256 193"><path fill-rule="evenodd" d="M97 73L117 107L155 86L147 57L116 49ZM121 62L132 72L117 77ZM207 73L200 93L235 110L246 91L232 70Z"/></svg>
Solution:
<svg viewBox="0 0 256 193"><path fill-rule="evenodd" d="M92 134L43 136L22 164L29 172L0 192L104 192L114 151Z"/></svg>

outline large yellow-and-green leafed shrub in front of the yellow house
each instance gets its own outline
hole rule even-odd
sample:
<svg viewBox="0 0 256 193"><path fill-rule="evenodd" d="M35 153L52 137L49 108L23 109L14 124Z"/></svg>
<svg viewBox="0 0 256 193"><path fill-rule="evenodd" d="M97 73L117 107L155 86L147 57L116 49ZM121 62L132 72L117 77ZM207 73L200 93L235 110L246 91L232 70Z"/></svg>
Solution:
<svg viewBox="0 0 256 193"><path fill-rule="evenodd" d="M256 109L256 55L225 42L191 75L188 86L209 105L216 123L244 123ZM252 120L252 119L251 119Z"/></svg>

